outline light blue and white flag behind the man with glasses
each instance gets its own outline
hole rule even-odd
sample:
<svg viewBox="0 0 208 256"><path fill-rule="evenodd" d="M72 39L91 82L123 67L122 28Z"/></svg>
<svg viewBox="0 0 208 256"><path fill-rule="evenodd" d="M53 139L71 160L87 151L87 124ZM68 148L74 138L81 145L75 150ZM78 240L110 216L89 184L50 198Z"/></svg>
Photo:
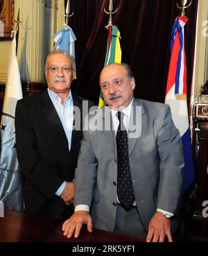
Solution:
<svg viewBox="0 0 208 256"><path fill-rule="evenodd" d="M60 31L55 33L52 36L52 39L55 42L54 49L61 49L61 50L67 51L69 54L73 56L73 59L74 59L73 79L76 79L76 63L75 63L76 36L74 35L72 28L70 28L70 26L65 26Z"/></svg>

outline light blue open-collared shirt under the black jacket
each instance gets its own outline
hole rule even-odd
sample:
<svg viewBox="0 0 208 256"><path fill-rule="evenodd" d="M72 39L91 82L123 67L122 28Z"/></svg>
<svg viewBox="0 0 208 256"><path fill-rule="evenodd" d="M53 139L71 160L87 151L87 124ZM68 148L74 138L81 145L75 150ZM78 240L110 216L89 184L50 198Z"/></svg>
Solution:
<svg viewBox="0 0 208 256"><path fill-rule="evenodd" d="M48 88L49 97L54 105L54 108L60 118L62 126L64 128L65 135L68 140L69 151L71 150L71 135L73 130L73 99L71 95L71 90L69 91L69 96L65 99L64 105L62 104L62 99L58 94L53 92ZM67 185L67 182L64 181L59 189L55 192L57 196L62 194L64 187Z"/></svg>

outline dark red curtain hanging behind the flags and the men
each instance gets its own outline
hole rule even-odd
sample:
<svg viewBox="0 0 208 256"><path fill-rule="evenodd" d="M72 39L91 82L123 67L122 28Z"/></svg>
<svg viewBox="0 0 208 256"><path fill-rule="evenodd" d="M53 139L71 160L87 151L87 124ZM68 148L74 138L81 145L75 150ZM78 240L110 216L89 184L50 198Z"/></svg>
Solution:
<svg viewBox="0 0 208 256"><path fill-rule="evenodd" d="M67 1L66 1L67 2ZM135 96L164 102L171 31L180 10L175 0L114 0L113 24L121 32L122 62L132 67L137 87ZM76 66L78 79L72 89L80 96L98 103L99 74L104 65L107 45L109 0L71 0L69 26L76 34ZM187 52L187 84L191 94L193 57L198 0L187 9L189 22L185 27Z"/></svg>

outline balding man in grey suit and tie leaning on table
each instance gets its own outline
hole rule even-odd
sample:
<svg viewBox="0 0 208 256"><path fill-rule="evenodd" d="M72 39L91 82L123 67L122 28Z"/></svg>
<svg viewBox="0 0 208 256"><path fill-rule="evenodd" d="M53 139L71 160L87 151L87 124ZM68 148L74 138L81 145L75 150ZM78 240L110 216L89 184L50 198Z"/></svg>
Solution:
<svg viewBox="0 0 208 256"><path fill-rule="evenodd" d="M184 158L170 108L135 99L135 79L126 64L104 67L100 85L108 107L89 114L75 175L75 212L62 226L64 236L70 238L74 232L78 237L85 223L89 232L94 226L146 241L173 241L172 217L180 203ZM117 141L122 122L128 130L123 149ZM121 151L128 155L124 161ZM123 196L120 162L129 169L122 182L130 193ZM123 206L123 198L132 200L130 207Z"/></svg>

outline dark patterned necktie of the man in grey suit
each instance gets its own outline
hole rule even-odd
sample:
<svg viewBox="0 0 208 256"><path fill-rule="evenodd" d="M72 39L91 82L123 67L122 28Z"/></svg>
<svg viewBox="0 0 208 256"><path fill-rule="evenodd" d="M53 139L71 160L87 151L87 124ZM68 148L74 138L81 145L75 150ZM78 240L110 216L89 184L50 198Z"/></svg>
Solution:
<svg viewBox="0 0 208 256"><path fill-rule="evenodd" d="M135 194L128 159L128 135L123 124L123 112L117 112L116 116L119 119L119 127L116 134L118 157L117 194L125 210L130 210L130 207L135 202Z"/></svg>

